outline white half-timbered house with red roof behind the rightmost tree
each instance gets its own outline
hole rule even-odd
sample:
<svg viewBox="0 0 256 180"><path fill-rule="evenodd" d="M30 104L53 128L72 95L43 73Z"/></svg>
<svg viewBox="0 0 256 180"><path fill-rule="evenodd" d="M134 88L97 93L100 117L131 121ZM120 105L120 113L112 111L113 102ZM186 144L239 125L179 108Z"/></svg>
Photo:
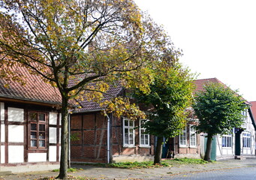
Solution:
<svg viewBox="0 0 256 180"><path fill-rule="evenodd" d="M206 83L221 83L216 78L195 80L194 84L196 86L195 92L203 91L203 86ZM221 83L223 84L223 83ZM248 110L242 112L244 115L244 124L242 127L233 128L230 130L229 134L226 135L216 135L212 141L212 160L226 157L239 157L239 156L251 156L255 155L255 122L254 116L251 112L251 104L248 104ZM202 133L200 149L200 155L203 157L206 149L206 134Z"/></svg>

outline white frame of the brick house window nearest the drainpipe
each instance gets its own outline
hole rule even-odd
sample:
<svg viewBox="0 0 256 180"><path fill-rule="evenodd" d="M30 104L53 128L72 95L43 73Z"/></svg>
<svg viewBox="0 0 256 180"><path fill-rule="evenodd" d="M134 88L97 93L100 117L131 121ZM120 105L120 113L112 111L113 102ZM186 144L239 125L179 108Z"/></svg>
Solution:
<svg viewBox="0 0 256 180"><path fill-rule="evenodd" d="M125 121L128 121L128 125L125 125ZM130 126L130 123L132 122L132 125ZM123 134L123 146L124 147L134 147L135 146L135 130L134 130L134 120L131 120L130 118L123 118L122 121L122 134ZM128 143L125 142L125 129L128 129ZM132 135L132 138L131 138ZM133 143L130 143L130 140L132 139Z"/></svg>

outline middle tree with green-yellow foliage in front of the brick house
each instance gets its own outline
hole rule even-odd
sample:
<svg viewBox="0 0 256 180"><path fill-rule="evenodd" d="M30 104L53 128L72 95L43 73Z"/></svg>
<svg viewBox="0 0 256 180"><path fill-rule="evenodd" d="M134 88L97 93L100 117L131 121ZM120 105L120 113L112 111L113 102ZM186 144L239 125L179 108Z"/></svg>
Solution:
<svg viewBox="0 0 256 180"><path fill-rule="evenodd" d="M146 133L158 136L154 163L161 163L164 137L177 136L185 127L185 109L191 105L194 75L179 64L172 68L156 68L154 73L150 92L136 91L134 98L151 108L151 112L147 110L150 121L143 127L146 127Z"/></svg>

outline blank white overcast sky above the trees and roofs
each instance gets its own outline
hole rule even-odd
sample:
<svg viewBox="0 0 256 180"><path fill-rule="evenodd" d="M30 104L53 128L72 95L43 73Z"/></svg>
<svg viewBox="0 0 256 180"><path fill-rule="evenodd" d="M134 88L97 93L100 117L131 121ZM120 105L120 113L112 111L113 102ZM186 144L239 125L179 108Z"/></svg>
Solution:
<svg viewBox="0 0 256 180"><path fill-rule="evenodd" d="M134 0L163 25L197 79L256 101L256 0Z"/></svg>

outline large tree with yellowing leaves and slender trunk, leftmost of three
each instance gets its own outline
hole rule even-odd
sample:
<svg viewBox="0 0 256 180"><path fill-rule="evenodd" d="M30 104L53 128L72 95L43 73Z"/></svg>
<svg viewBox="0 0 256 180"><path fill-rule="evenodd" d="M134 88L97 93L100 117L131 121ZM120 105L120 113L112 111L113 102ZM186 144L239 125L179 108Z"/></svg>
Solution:
<svg viewBox="0 0 256 180"><path fill-rule="evenodd" d="M150 69L160 59L170 66L180 54L132 0L4 0L0 6L2 68L26 66L62 96L59 178L67 178L68 103L83 97L99 102L116 83L149 92ZM134 108L127 99L113 102Z"/></svg>

